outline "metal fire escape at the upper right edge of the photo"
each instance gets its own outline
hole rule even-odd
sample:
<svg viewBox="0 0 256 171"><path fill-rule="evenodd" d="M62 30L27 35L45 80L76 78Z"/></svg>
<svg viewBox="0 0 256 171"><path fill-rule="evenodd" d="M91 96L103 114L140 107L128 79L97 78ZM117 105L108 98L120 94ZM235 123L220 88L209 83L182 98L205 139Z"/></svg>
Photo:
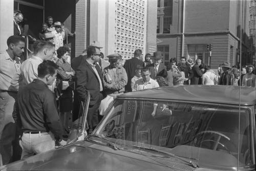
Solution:
<svg viewBox="0 0 256 171"><path fill-rule="evenodd" d="M256 0L250 1L250 19L249 19L249 55L250 59L252 59L253 65L256 65Z"/></svg>

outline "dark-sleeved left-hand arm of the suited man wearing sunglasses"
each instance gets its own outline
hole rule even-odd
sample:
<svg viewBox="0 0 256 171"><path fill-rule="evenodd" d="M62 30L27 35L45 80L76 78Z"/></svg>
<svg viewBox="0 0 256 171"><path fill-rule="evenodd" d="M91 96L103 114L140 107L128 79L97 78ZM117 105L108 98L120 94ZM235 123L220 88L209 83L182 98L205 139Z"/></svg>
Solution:
<svg viewBox="0 0 256 171"><path fill-rule="evenodd" d="M85 66L80 65L76 70L76 78L77 78L77 92L78 96L81 98L82 101L86 101L87 99L87 71L86 69L82 68Z"/></svg>

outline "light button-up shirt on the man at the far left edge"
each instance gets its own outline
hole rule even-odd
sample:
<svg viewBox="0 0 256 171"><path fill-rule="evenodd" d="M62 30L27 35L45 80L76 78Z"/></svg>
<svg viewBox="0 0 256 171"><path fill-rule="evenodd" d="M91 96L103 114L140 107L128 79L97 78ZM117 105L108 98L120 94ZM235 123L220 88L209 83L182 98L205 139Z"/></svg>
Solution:
<svg viewBox="0 0 256 171"><path fill-rule="evenodd" d="M18 91L22 80L21 65L22 60L18 57L12 59L6 51L0 54L0 90Z"/></svg>

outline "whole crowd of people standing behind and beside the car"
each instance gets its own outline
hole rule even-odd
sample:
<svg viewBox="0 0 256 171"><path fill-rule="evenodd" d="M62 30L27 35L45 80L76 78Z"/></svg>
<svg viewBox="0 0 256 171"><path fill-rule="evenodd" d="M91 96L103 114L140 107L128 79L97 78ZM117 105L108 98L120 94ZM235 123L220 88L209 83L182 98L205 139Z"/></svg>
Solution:
<svg viewBox="0 0 256 171"><path fill-rule="evenodd" d="M15 23L22 14L14 15ZM200 59L171 58L167 66L161 52L142 56L137 49L132 59L122 65L122 56L100 52L93 41L83 54L70 60L71 48L63 45L60 22L48 17L39 37L33 43L33 55L22 61L25 38L10 36L8 49L0 54L0 157L1 164L27 158L66 144L73 123L78 119L80 103L90 102L87 122L90 133L102 116L99 108L108 106L112 97L131 91L161 86L238 85L255 86L252 65L241 68L241 74L229 62L218 68L218 74ZM53 37L49 37L50 34ZM66 35L67 36L67 35ZM66 37L67 38L67 37ZM57 54L57 56L55 55ZM57 59L56 59L57 58ZM241 75L241 77L240 77ZM19 143L20 142L20 143Z"/></svg>

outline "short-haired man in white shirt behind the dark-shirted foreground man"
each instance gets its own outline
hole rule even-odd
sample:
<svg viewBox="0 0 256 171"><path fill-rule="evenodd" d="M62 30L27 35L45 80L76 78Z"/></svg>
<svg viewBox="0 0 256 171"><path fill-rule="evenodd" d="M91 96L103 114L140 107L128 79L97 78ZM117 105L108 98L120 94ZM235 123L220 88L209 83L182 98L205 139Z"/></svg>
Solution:
<svg viewBox="0 0 256 171"><path fill-rule="evenodd" d="M55 51L54 44L49 41L36 40L33 44L34 54L31 58L25 60L21 67L23 85L31 83L37 78L37 67L45 60L50 60Z"/></svg>

